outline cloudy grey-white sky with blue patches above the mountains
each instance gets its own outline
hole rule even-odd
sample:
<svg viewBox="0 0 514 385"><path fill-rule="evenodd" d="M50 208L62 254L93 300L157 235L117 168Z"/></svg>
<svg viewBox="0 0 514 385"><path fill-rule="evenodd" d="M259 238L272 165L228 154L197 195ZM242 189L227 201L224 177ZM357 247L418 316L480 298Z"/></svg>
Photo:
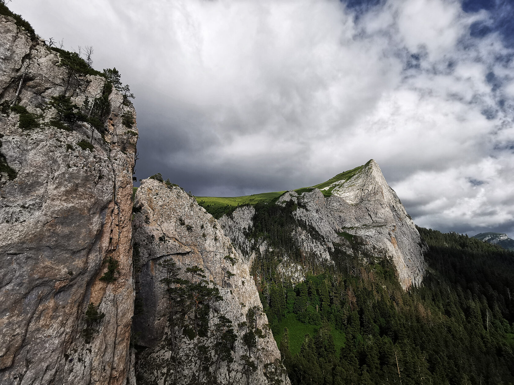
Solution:
<svg viewBox="0 0 514 385"><path fill-rule="evenodd" d="M138 178L197 196L375 159L421 226L514 236L512 0L13 0L136 94Z"/></svg>

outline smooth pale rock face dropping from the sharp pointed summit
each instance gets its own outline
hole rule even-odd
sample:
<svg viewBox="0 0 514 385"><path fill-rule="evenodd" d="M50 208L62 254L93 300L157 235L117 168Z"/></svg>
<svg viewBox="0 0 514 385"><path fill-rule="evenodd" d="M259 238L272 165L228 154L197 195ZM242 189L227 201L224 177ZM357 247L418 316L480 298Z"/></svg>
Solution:
<svg viewBox="0 0 514 385"><path fill-rule="evenodd" d="M420 284L424 261L420 236L396 192L372 159L355 175L334 182L327 206L337 224L392 258L403 288Z"/></svg>

